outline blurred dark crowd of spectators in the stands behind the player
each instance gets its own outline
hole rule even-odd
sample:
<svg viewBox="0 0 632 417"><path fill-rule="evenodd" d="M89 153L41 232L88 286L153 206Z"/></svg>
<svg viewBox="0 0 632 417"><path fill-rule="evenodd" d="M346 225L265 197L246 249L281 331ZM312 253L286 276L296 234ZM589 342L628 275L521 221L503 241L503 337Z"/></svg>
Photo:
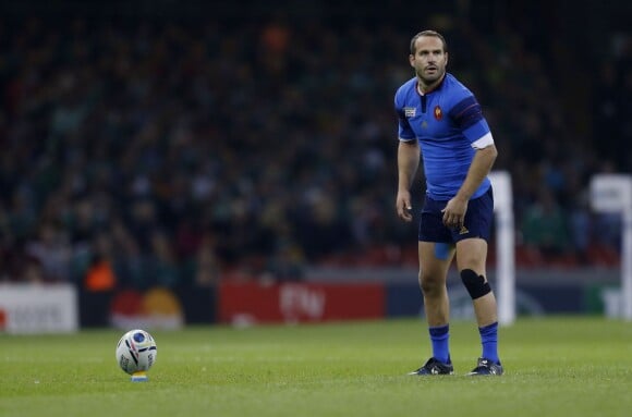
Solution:
<svg viewBox="0 0 632 417"><path fill-rule="evenodd" d="M621 220L592 212L587 187L632 167L632 37L603 34L583 74L546 27L494 23L0 21L0 282L97 291L416 262L416 228L393 209L392 97L428 27L512 175L519 265L616 265Z"/></svg>

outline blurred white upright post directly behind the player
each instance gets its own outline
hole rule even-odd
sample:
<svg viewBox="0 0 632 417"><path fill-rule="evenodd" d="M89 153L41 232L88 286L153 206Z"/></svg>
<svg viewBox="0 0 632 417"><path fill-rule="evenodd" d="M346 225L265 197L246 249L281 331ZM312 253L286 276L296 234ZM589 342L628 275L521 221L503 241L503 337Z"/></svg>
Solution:
<svg viewBox="0 0 632 417"><path fill-rule="evenodd" d="M509 326L515 321L515 238L513 218L513 191L507 171L491 171L496 220L496 283L498 323Z"/></svg>

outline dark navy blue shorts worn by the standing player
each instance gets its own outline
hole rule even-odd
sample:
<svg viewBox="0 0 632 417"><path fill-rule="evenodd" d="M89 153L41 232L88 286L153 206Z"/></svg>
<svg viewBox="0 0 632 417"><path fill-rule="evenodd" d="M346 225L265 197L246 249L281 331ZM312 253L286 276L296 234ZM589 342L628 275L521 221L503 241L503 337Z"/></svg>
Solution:
<svg viewBox="0 0 632 417"><path fill-rule="evenodd" d="M470 237L481 237L489 242L494 220L491 187L481 197L470 200L461 229L449 229L443 224L441 210L447 204L447 200L434 200L426 196L420 221L420 242L457 243Z"/></svg>

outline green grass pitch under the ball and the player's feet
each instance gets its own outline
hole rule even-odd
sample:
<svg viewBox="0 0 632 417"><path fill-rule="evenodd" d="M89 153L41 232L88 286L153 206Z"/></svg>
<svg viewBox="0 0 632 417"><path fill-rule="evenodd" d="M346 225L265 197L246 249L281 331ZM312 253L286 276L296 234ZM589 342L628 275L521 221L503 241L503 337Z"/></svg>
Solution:
<svg viewBox="0 0 632 417"><path fill-rule="evenodd" d="M0 416L631 416L632 323L519 319L506 375L465 373L473 322L451 323L457 375L410 377L429 356L418 319L153 331L149 381L114 360L123 331L0 335Z"/></svg>

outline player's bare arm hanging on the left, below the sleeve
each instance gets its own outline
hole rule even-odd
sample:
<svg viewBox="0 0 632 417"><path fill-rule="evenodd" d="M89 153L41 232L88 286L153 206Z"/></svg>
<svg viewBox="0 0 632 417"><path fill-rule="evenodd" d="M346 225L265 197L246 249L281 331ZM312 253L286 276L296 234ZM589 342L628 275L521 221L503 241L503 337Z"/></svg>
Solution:
<svg viewBox="0 0 632 417"><path fill-rule="evenodd" d="M420 167L420 144L416 139L402 140L398 146L398 195L396 208L398 217L404 221L413 220L411 213L411 186Z"/></svg>

